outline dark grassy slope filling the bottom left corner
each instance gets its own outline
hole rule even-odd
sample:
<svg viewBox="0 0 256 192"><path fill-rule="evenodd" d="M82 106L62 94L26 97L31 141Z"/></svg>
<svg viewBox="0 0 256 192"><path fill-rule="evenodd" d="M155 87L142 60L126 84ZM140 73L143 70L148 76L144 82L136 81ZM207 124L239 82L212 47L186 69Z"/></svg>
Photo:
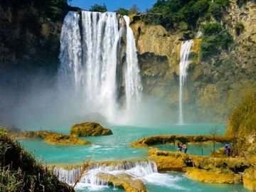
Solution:
<svg viewBox="0 0 256 192"><path fill-rule="evenodd" d="M74 191L0 129L0 191Z"/></svg>

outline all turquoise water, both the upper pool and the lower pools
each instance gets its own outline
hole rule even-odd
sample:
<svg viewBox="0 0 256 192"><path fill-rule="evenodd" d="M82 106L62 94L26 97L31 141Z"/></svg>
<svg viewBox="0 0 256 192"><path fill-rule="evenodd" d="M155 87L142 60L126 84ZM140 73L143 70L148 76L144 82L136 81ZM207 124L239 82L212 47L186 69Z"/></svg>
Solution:
<svg viewBox="0 0 256 192"><path fill-rule="evenodd" d="M159 128L149 127L110 127L113 135L105 137L81 137L93 143L92 146L56 146L43 142L41 139L21 139L21 145L33 151L38 159L43 159L48 164L79 164L85 159L92 160L116 160L136 159L147 156L147 149L132 148L130 143L143 137L157 134L208 134L210 129L218 127L219 134L225 133L223 124L199 124L185 126L166 126ZM58 131L56 129L55 131ZM60 132L60 131L59 131ZM62 129L67 134L68 129ZM222 145L220 145L222 146ZM159 149L176 151L174 145L157 145ZM216 148L218 148L217 146ZM204 148L204 154L210 154L210 145ZM201 149L196 145L188 146L189 154L200 154ZM150 182L148 182L150 181ZM242 185L214 185L193 181L181 173L153 174L146 180L148 191L246 191ZM104 187L95 191L123 191L119 188ZM92 188L84 188L84 191L93 191Z"/></svg>

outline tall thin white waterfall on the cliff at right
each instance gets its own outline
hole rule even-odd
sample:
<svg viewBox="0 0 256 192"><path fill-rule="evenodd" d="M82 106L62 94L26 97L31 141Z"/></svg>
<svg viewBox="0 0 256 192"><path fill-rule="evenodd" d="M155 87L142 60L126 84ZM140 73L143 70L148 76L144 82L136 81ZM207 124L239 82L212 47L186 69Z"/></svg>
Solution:
<svg viewBox="0 0 256 192"><path fill-rule="evenodd" d="M178 94L178 105L179 105L179 116L178 124L183 124L183 85L186 82L188 75L188 56L193 45L193 39L188 41L183 41L181 44L181 53L180 58L181 62L179 63L179 94Z"/></svg>

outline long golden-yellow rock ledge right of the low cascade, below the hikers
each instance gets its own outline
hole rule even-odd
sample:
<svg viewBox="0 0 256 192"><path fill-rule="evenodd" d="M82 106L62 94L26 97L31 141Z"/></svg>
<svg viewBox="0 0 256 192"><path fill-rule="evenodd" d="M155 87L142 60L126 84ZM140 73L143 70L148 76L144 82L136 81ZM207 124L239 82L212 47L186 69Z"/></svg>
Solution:
<svg viewBox="0 0 256 192"><path fill-rule="evenodd" d="M240 172L251 166L243 158L214 158L154 148L149 149L149 159L156 162L159 171L183 171L206 183L241 183Z"/></svg>

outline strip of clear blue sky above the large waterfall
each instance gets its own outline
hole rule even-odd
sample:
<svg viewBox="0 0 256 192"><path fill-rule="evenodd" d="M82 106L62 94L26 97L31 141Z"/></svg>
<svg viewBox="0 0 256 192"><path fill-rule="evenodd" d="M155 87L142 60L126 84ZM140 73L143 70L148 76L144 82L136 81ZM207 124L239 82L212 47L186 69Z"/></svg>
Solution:
<svg viewBox="0 0 256 192"><path fill-rule="evenodd" d="M137 4L140 11L150 9L156 0L72 0L71 6L78 6L82 9L90 9L94 4L106 4L108 11L115 11L119 7L130 9L132 5Z"/></svg>

